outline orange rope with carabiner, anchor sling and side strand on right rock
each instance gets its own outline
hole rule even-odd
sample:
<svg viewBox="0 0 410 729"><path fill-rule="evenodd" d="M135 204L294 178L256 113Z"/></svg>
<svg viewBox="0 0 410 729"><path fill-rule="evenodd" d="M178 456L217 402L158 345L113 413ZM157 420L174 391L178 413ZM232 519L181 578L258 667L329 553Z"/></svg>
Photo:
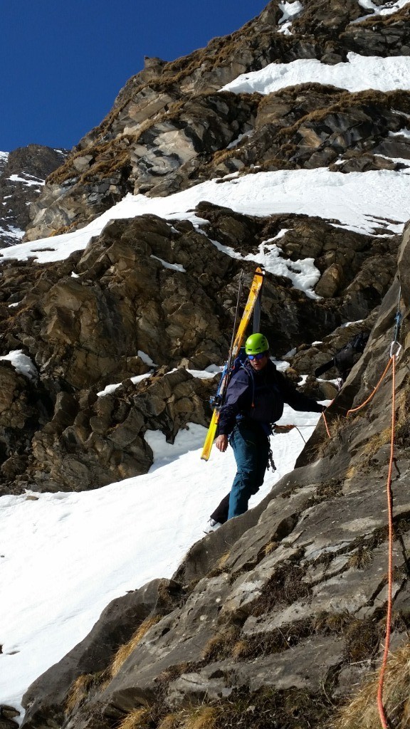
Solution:
<svg viewBox="0 0 410 729"><path fill-rule="evenodd" d="M387 658L389 655L390 650L390 633L391 633L391 623L392 623L392 582L393 582L393 513L392 513L392 466L394 462L394 441L395 441L395 366L398 359L398 356L401 353L401 344L399 343L399 337L400 337L400 330L401 330L401 320L403 319L403 316L400 311L400 304L401 304L401 288L399 289L398 294L398 308L397 312L395 314L395 331L394 331L394 338L392 340L392 343L390 345L390 359L387 364L387 367L384 370L384 373L382 374L382 377L380 378L379 382L376 384L376 387L374 388L371 395L363 402L361 405L359 405L357 408L352 408L352 410L347 411L347 416L349 416L350 413L356 413L357 410L361 410L362 408L367 405L368 402L374 397L376 394L376 391L379 389L379 386L381 385L382 381L384 380L384 376L387 374L387 371L392 367L392 415L391 415L391 432L390 432L390 459L389 459L389 468L387 472L387 484L386 484L386 491L387 491L387 515L388 515L388 526L389 526L389 536L388 536L388 568L387 568L387 615L386 615L386 635L384 640L384 652L383 652L383 659L382 659L382 666L380 668L380 674L379 674L379 685L377 689L377 708L379 710L379 718L380 722L382 724L382 729L388 729L389 725L387 723L387 717L386 713L384 711L383 706L383 687L384 687L384 674L386 672L387 668Z"/></svg>

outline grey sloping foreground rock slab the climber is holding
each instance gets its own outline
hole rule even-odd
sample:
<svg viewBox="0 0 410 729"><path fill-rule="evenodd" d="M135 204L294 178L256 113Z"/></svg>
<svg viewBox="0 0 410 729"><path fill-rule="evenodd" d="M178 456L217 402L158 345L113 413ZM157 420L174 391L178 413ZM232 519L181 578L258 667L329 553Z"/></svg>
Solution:
<svg viewBox="0 0 410 729"><path fill-rule="evenodd" d="M404 327L409 249L410 227L398 257ZM279 720L289 727L325 725L379 660L384 636L390 378L365 410L344 416L368 397L384 370L397 301L395 281L365 354L328 410L331 439L318 426L295 470L264 502L193 545L171 583L163 583L162 612L155 602L158 581L115 601L88 638L28 691L23 726L102 729L138 714L155 727L171 720L179 727L187 714L205 709L218 728L235 725L244 712L251 712L251 727L261 726L261 715L264 726ZM409 346L406 336L396 370L396 646L406 642L410 620ZM144 612L134 617L133 606L141 611L142 600ZM145 618L115 670L113 614L125 632L129 620L136 629ZM107 642L104 652L99 635ZM298 723L301 714L304 723Z"/></svg>

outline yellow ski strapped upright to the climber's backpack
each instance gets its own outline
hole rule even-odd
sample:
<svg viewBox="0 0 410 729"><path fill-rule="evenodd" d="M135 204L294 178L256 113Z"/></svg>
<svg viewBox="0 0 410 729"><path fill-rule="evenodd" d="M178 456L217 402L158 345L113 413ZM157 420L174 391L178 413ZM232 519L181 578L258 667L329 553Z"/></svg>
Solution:
<svg viewBox="0 0 410 729"><path fill-rule="evenodd" d="M231 378L232 366L236 360L236 357L239 355L239 351L244 341L247 326L250 323L252 312L254 311L255 304L258 301L258 297L262 289L262 284L263 270L261 268L257 268L255 270L255 276L253 277L252 284L250 286L250 292L247 298L247 303L245 304L244 313L241 316L241 320L239 321L236 332L235 330L233 331L228 361L225 363L225 367L223 368L223 373L220 378L220 384L217 389L217 395L214 398L214 411L212 413L212 419L208 428L208 432L206 433L204 448L202 449L201 453L201 459L203 459L204 461L208 461L211 454L212 444L214 443L214 438L217 434L217 424L219 421L220 409L223 406L225 392L228 388L229 379Z"/></svg>

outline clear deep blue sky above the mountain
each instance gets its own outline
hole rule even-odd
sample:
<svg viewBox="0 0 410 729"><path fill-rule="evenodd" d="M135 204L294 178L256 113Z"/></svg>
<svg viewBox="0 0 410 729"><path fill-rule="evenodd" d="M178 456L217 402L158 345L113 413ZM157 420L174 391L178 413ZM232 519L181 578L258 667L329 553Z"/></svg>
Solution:
<svg viewBox="0 0 410 729"><path fill-rule="evenodd" d="M268 0L2 0L0 149L70 149L144 55L172 61L240 28Z"/></svg>

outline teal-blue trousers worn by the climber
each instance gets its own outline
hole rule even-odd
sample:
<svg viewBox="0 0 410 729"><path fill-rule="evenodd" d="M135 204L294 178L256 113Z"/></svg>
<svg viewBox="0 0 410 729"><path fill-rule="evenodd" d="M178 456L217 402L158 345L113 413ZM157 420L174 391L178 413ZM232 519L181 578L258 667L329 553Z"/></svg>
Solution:
<svg viewBox="0 0 410 729"><path fill-rule="evenodd" d="M237 424L229 438L236 460L236 476L229 496L228 519L244 514L252 494L263 484L269 457L269 439L261 428Z"/></svg>

